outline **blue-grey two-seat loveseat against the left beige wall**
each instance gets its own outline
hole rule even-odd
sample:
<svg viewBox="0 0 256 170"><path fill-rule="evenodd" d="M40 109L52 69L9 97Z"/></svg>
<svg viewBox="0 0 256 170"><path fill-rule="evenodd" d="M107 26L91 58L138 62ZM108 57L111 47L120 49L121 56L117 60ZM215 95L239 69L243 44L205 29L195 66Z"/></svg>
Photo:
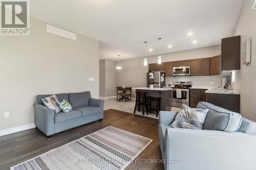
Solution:
<svg viewBox="0 0 256 170"><path fill-rule="evenodd" d="M52 109L42 105L41 99L52 94L37 95L34 104L35 126L51 137L54 133L103 119L104 101L91 98L90 91L56 94L59 101L65 99L73 110L54 114Z"/></svg>

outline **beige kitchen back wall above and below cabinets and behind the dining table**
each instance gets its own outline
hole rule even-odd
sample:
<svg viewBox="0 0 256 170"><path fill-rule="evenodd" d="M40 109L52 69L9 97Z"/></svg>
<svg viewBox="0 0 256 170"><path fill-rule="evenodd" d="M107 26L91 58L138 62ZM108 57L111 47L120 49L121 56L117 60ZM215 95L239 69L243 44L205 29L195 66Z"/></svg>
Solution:
<svg viewBox="0 0 256 170"><path fill-rule="evenodd" d="M162 54L161 56L162 56L162 62L167 62L167 61L212 57L212 56L219 55L220 53L221 53L220 45L216 45L216 46L197 48L194 50L167 53L167 54ZM146 58L148 63L157 62L157 56L148 56ZM145 87L146 72L148 71L148 66L143 66L143 59L144 57L121 61L121 65L123 66L123 68L116 71L117 86L121 86L124 84L126 87L127 86ZM188 81L193 81L194 85L210 85L210 82L213 82L214 85L217 85L221 82L222 77L223 76L166 78L166 84L173 81L188 80Z"/></svg>

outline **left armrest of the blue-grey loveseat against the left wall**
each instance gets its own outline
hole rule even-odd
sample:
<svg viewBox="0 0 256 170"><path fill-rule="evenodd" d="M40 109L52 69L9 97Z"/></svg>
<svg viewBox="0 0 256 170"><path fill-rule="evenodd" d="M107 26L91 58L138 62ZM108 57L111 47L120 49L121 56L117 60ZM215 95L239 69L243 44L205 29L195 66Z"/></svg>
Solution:
<svg viewBox="0 0 256 170"><path fill-rule="evenodd" d="M44 132L47 136L54 134L54 112L52 109L41 105L34 104L35 126Z"/></svg>

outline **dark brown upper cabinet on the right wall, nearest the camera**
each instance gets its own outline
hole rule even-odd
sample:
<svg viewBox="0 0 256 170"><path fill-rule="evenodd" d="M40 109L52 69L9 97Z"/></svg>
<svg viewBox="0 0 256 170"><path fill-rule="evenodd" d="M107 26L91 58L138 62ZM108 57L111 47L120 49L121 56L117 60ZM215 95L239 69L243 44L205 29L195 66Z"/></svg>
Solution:
<svg viewBox="0 0 256 170"><path fill-rule="evenodd" d="M221 41L222 70L240 70L241 36L223 38Z"/></svg>

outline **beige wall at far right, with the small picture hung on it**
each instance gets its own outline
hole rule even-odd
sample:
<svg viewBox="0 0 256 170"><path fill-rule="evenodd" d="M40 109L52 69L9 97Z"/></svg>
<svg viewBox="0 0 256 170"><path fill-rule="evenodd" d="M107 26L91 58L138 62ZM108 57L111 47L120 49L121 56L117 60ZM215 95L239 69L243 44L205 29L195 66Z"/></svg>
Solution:
<svg viewBox="0 0 256 170"><path fill-rule="evenodd" d="M255 73L256 73L256 10L251 7L254 0L245 0L238 19L234 35L242 35L242 42L245 37L251 39L251 63L241 65L238 74L241 89L241 113L244 117L256 121L256 92L255 92Z"/></svg>

